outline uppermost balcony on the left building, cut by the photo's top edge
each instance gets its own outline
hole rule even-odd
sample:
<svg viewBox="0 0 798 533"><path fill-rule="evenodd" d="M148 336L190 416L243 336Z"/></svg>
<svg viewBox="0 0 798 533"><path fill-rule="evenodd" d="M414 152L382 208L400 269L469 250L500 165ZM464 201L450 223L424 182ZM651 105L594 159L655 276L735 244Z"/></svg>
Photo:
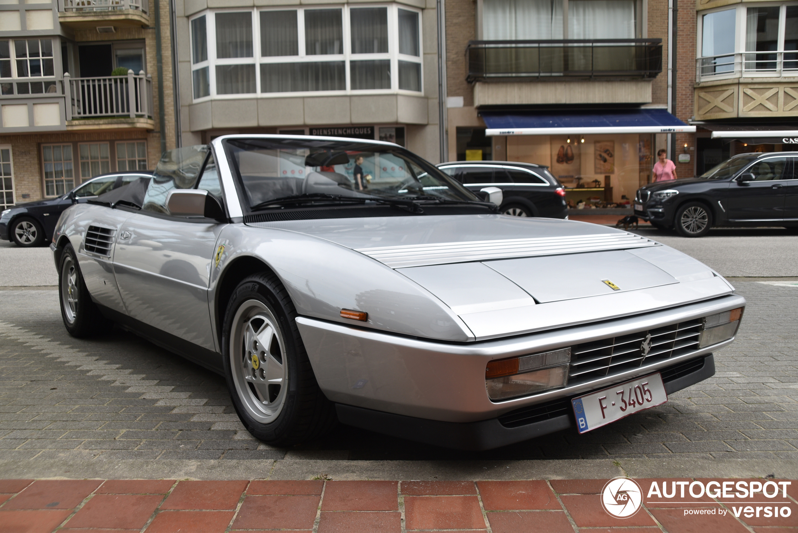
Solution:
<svg viewBox="0 0 798 533"><path fill-rule="evenodd" d="M148 0L58 0L58 20L73 29L148 26Z"/></svg>

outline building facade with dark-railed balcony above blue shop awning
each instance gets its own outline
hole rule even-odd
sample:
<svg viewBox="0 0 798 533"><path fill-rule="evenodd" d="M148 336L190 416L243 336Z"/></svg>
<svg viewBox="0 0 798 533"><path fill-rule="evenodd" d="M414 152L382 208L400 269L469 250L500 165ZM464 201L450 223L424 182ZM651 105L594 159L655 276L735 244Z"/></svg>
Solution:
<svg viewBox="0 0 798 533"><path fill-rule="evenodd" d="M448 158L548 165L573 205L630 201L658 149L677 159L695 130L674 116L673 14L667 0L447 0Z"/></svg>

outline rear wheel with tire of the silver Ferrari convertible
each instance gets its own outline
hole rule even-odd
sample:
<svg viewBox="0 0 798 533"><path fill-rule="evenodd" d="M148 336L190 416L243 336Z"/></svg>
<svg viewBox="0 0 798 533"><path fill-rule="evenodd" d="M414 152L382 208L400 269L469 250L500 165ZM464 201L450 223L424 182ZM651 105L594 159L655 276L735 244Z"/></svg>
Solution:
<svg viewBox="0 0 798 533"><path fill-rule="evenodd" d="M66 245L58 264L58 301L69 335L82 339L108 332L113 325L92 301L72 245Z"/></svg>

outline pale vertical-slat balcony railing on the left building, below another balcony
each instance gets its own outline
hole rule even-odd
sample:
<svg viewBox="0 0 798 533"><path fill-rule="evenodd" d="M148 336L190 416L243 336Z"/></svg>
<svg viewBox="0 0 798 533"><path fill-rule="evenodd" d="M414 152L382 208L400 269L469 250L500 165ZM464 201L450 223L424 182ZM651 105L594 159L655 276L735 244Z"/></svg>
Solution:
<svg viewBox="0 0 798 533"><path fill-rule="evenodd" d="M66 120L104 117L152 118L152 77L71 78L64 74Z"/></svg>

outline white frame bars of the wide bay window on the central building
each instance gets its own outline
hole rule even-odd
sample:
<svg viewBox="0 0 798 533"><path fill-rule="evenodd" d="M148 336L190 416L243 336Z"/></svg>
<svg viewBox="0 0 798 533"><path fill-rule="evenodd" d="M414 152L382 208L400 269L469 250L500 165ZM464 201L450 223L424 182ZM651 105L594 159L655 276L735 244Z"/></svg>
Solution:
<svg viewBox="0 0 798 533"><path fill-rule="evenodd" d="M367 8L367 7L384 7L388 11L388 52L385 54L352 54L352 40L350 31L350 10ZM343 54L322 54L322 55L308 55L305 50L305 11L306 10L329 10L340 9L342 11L342 39ZM399 54L399 13L398 10L413 11L418 14L418 56L411 56ZM260 49L260 14L265 11L297 11L297 39L298 39L298 55L296 56L262 56ZM252 14L252 58L216 58L216 25L215 14L217 13L251 13ZM194 63L193 46L194 34L192 30L192 22L200 17L205 17L205 31L207 34L207 61ZM424 42L423 42L423 13L421 10L413 8L412 6L398 6L397 4L385 3L363 3L363 4L330 4L330 5L312 5L312 6L275 6L267 8L255 9L218 9L218 10L205 10L198 13L188 21L189 27L189 42L188 46L190 54L192 55L192 101L201 102L208 100L235 100L239 98L271 98L271 97L303 97L303 96L341 96L341 95L359 95L359 94L408 94L419 96L424 94ZM390 61L391 69L391 86L389 89L352 89L350 80L350 62L352 61L374 61L385 60ZM346 76L346 89L342 90L325 90L325 91L294 91L282 93L262 93L262 83L260 79L260 66L267 63L286 63L286 62L335 62L343 61L345 65ZM414 62L420 65L421 72L421 90L406 90L399 89L399 61ZM221 65L244 65L255 64L255 89L256 93L240 93L240 94L217 94L216 93L216 66ZM207 67L208 69L208 82L210 84L210 91L207 97L194 98L194 71Z"/></svg>

